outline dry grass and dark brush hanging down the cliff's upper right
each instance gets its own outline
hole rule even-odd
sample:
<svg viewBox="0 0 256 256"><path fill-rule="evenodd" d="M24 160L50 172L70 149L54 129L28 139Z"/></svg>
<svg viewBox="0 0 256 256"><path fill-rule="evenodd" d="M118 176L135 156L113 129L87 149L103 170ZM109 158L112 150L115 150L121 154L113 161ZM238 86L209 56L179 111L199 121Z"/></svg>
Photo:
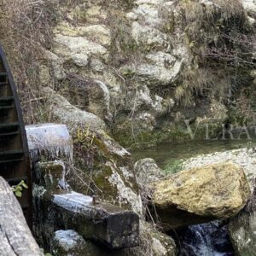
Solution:
<svg viewBox="0 0 256 256"><path fill-rule="evenodd" d="M240 0L208 3L183 0L183 25L191 67L183 75L174 96L184 107L195 105L198 96L229 98L243 71L253 65L246 15ZM251 42L251 43L250 43Z"/></svg>

